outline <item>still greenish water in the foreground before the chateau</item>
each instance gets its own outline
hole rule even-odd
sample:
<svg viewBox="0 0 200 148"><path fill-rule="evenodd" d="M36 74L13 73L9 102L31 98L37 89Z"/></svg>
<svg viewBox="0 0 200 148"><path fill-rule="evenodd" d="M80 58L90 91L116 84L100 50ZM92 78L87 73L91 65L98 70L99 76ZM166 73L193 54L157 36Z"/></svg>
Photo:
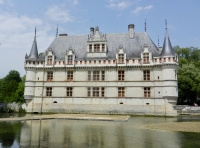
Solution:
<svg viewBox="0 0 200 148"><path fill-rule="evenodd" d="M12 115L15 116L15 115ZM0 117L5 117L0 114ZM7 116L9 117L9 116ZM184 116L131 117L128 122L32 120L0 122L0 147L13 148L179 148L200 147L200 133L142 128L143 125L200 121Z"/></svg>

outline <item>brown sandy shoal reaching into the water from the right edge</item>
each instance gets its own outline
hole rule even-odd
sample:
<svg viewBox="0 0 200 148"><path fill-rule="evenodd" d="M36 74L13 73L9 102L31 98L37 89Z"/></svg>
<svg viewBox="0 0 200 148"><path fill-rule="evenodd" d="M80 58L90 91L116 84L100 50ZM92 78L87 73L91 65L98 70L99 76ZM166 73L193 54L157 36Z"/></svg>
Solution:
<svg viewBox="0 0 200 148"><path fill-rule="evenodd" d="M143 128L150 130L164 130L172 132L200 132L200 122L170 122L146 125Z"/></svg>

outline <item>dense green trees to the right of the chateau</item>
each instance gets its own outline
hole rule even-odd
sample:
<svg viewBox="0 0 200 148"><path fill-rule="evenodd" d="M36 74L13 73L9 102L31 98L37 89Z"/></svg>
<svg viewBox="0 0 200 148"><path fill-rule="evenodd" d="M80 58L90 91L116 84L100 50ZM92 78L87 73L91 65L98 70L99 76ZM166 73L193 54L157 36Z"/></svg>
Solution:
<svg viewBox="0 0 200 148"><path fill-rule="evenodd" d="M173 48L179 57L178 104L192 105L200 96L200 49L195 47Z"/></svg>

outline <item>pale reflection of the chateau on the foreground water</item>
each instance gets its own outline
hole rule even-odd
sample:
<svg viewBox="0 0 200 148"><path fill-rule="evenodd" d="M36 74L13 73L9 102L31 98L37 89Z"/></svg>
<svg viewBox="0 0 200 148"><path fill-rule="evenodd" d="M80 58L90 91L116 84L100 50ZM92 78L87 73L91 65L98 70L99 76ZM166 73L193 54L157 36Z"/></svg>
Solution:
<svg viewBox="0 0 200 148"><path fill-rule="evenodd" d="M164 118L130 118L128 122L75 120L25 121L20 147L179 147L177 132L140 128L146 123L159 123Z"/></svg>

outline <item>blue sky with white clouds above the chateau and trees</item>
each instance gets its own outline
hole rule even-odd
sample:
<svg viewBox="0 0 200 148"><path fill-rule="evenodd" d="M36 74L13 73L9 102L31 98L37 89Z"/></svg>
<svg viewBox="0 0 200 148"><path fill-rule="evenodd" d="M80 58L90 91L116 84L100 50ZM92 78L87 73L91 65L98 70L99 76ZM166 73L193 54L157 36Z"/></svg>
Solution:
<svg viewBox="0 0 200 148"><path fill-rule="evenodd" d="M58 32L89 34L99 26L102 33L146 32L162 46L165 19L172 46L200 48L200 0L0 0L0 78L10 70L25 75L37 28L38 52L44 52Z"/></svg>

